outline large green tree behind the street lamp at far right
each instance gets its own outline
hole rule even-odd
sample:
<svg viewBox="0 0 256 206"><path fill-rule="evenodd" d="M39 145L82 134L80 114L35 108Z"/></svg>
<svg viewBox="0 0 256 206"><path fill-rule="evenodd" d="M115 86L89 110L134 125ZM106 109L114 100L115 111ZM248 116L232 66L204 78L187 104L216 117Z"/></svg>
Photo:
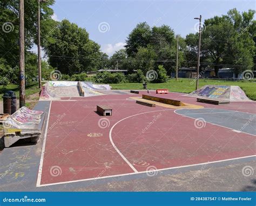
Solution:
<svg viewBox="0 0 256 206"><path fill-rule="evenodd" d="M255 56L254 11L239 13L236 9L227 15L206 19L201 36L200 61L211 64L215 74L219 68L234 67L235 73L251 69ZM198 33L186 36L189 65L196 66L198 52ZM205 66L201 64L201 66Z"/></svg>

